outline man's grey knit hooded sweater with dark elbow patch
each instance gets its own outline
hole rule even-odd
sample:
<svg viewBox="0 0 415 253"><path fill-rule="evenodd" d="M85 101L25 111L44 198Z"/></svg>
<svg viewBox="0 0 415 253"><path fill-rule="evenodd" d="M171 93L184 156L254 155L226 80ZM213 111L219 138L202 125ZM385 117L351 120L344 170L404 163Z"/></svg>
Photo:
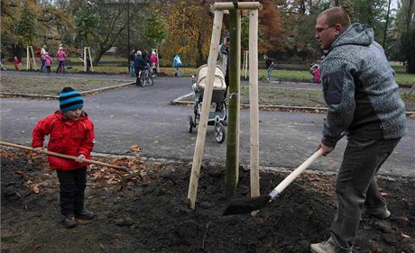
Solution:
<svg viewBox="0 0 415 253"><path fill-rule="evenodd" d="M338 35L321 64L321 74L328 105L323 144L336 146L343 131L370 139L405 135L405 104L372 28L354 23Z"/></svg>

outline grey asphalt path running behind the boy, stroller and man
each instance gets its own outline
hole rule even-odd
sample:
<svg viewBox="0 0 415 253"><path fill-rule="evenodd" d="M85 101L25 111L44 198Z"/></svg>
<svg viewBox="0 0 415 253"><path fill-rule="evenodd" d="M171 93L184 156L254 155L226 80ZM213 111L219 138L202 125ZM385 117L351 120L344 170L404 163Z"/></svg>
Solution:
<svg viewBox="0 0 415 253"><path fill-rule="evenodd" d="M16 75L5 71L2 75ZM35 72L19 75L35 77ZM55 76L56 74L51 74ZM122 79L128 75L66 74L64 78ZM193 107L171 105L171 101L191 92L190 78L157 77L154 86L126 86L97 95L85 96L84 109L95 124L98 153L131 154L130 147L142 147L142 156L172 158L191 161L197 133L187 130L187 117ZM246 85L243 82L243 85ZM57 84L58 85L58 84ZM291 86L292 88L319 88L313 84L269 84L260 86ZM30 145L32 128L44 116L58 109L56 100L29 98L1 99L1 139ZM298 167L316 150L321 137L325 114L260 112L260 165L263 167ZM241 111L240 160L250 163L249 110ZM415 177L415 120L408 119L409 134L393 151L391 158L379 172L383 176ZM325 158L310 166L310 170L336 172L340 167L346 140L340 140L337 148ZM226 142L218 144L213 126L208 126L203 162L225 163Z"/></svg>

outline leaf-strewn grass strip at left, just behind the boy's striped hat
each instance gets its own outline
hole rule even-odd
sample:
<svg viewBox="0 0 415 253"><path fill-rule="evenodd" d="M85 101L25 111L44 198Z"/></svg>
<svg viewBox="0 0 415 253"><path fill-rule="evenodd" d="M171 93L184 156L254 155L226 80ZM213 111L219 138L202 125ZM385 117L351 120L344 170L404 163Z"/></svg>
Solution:
<svg viewBox="0 0 415 253"><path fill-rule="evenodd" d="M58 77L1 77L0 90L2 93L59 95L65 86L71 86L79 92L97 88L117 86L126 81L97 80L97 79L70 79Z"/></svg>

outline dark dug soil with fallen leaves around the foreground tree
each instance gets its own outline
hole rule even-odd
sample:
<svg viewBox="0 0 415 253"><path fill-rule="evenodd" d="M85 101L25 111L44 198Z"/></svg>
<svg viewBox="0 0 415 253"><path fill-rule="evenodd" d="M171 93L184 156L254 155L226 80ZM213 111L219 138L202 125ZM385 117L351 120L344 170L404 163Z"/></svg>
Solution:
<svg viewBox="0 0 415 253"><path fill-rule="evenodd" d="M87 203L97 217L67 230L46 158L2 149L1 252L308 252L310 243L327 239L336 211L334 176L305 173L256 216L224 217L223 167L201 168L193 211L186 203L188 162L102 160L136 173L90 166ZM262 171L261 193L284 176ZM392 216L363 217L354 252L415 252L414 183L378 179ZM241 169L237 193L249 195L249 171Z"/></svg>

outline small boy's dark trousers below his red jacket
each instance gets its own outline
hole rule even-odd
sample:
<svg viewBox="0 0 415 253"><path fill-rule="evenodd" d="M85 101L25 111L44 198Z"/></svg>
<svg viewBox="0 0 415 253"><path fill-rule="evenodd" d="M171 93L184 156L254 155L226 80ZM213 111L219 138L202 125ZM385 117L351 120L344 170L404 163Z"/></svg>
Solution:
<svg viewBox="0 0 415 253"><path fill-rule="evenodd" d="M56 170L60 182L60 212L63 215L84 210L87 167Z"/></svg>

